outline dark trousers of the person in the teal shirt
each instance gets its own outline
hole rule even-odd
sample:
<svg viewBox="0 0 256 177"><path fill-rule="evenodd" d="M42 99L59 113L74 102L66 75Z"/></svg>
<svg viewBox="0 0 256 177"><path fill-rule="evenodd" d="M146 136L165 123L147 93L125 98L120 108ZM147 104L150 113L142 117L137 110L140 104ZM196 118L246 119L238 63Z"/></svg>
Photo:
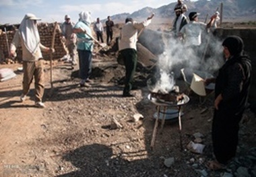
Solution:
<svg viewBox="0 0 256 177"><path fill-rule="evenodd" d="M89 50L77 50L79 57L80 79L88 79L92 72L92 52Z"/></svg>

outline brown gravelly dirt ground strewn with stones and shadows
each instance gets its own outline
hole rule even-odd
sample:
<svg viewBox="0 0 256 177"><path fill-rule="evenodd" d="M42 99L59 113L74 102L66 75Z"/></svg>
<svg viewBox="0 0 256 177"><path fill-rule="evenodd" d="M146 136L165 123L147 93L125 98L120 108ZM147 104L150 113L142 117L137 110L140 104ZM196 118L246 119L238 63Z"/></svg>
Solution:
<svg viewBox="0 0 256 177"><path fill-rule="evenodd" d="M255 114L246 110L235 163L214 172L205 167L212 160L211 125L214 98L203 104L191 92L190 101L182 106L182 131L177 119L160 122L154 148L150 147L156 105L148 100L148 73L135 75L138 87L134 98L121 97L124 68L114 55L97 55L93 59L91 87L79 87L77 67L55 61L53 89L49 62L45 69L44 103L34 107L34 85L25 102L20 102L22 72L20 63L0 65L11 68L17 76L0 82L0 177L12 176L239 176L239 167L256 176ZM177 79L181 92L187 87ZM187 92L186 92L187 93ZM201 98L203 100L203 98ZM177 109L171 107L170 109ZM141 114L133 122L134 114ZM122 128L113 129L113 118ZM203 153L187 149L201 133ZM181 135L181 138L180 138ZM181 146L182 145L182 146ZM254 153L253 160L248 155ZM174 158L167 167L164 162ZM249 161L249 162L248 162ZM239 162L239 163L238 163ZM245 162L248 162L246 164Z"/></svg>

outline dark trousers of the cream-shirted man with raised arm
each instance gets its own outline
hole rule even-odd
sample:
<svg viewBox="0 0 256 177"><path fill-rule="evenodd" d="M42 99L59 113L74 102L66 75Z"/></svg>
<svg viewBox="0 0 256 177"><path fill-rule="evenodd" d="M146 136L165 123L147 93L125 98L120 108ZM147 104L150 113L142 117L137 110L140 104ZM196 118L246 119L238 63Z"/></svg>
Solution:
<svg viewBox="0 0 256 177"><path fill-rule="evenodd" d="M133 84L133 77L137 66L137 50L127 48L121 50L120 53L125 63L125 87L123 89L123 94L127 94L131 91Z"/></svg>

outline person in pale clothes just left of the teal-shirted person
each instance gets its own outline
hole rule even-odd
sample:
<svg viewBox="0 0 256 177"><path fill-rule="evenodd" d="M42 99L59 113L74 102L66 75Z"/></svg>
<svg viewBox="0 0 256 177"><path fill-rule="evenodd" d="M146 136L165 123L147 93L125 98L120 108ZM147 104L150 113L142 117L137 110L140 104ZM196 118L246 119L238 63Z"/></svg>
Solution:
<svg viewBox="0 0 256 177"><path fill-rule="evenodd" d="M77 64L76 59L76 46L75 46L75 34L73 33L73 26L75 24L71 22L69 15L65 15L65 22L61 25L62 40L65 42L65 46L69 52L70 59L67 60L71 65Z"/></svg>

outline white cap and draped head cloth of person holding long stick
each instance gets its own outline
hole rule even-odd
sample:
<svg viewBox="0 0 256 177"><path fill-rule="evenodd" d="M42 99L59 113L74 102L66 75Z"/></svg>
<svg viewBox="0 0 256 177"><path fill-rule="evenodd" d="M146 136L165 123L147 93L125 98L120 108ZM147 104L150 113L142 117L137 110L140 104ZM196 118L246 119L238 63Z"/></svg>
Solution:
<svg viewBox="0 0 256 177"><path fill-rule="evenodd" d="M38 48L40 44L38 28L36 24L34 24L34 20L41 19L32 13L27 13L19 28L24 44L32 54L36 52L36 48Z"/></svg>

